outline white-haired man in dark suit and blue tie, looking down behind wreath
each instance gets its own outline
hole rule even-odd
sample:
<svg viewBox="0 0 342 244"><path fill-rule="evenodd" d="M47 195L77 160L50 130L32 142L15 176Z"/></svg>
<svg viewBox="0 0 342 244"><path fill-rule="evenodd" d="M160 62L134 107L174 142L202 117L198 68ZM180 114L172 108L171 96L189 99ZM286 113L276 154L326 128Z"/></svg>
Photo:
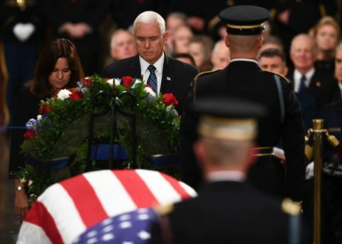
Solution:
<svg viewBox="0 0 342 244"><path fill-rule="evenodd" d="M105 67L102 76L142 77L155 93L173 93L179 102L176 108L182 111L182 103L197 75L197 68L165 55L163 46L169 32L165 31L165 21L160 14L143 12L135 19L133 31L138 55L110 64Z"/></svg>

